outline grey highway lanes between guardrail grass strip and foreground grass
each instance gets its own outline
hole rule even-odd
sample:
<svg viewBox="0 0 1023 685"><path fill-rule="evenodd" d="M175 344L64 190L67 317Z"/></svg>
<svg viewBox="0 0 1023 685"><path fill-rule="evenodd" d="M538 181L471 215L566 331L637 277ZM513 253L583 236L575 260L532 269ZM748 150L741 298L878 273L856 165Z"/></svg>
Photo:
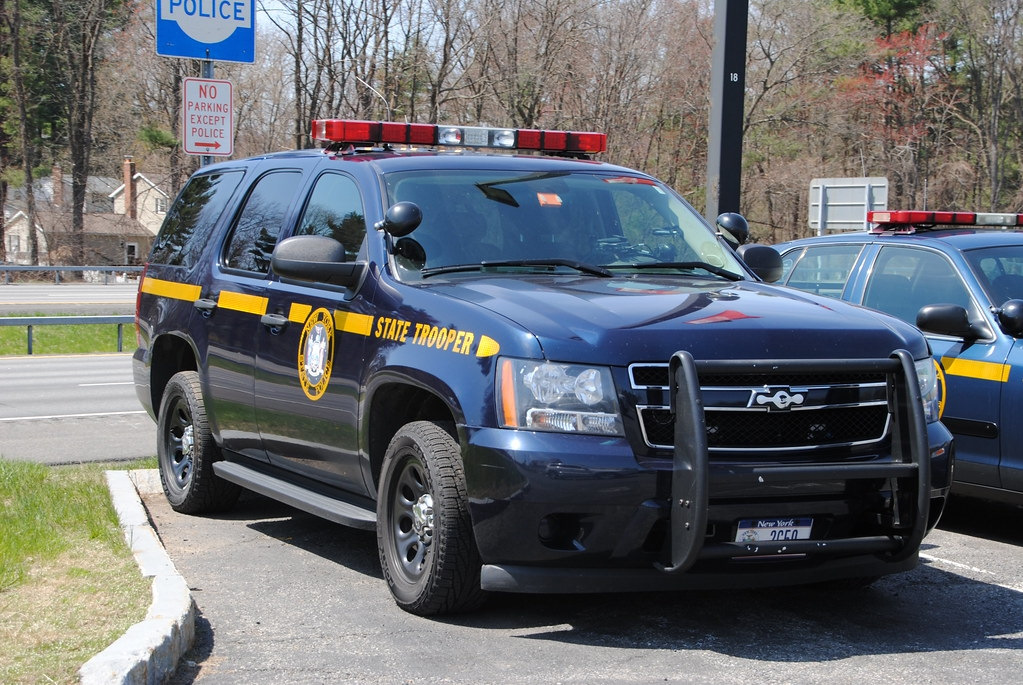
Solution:
<svg viewBox="0 0 1023 685"><path fill-rule="evenodd" d="M45 464L157 453L131 355L0 357L0 456Z"/></svg>

